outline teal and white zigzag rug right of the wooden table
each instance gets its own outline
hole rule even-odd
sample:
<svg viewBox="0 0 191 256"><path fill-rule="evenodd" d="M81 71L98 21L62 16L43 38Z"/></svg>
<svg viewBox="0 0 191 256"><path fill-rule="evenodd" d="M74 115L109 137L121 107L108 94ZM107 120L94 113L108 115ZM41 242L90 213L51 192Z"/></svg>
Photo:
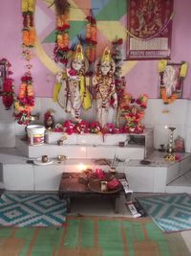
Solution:
<svg viewBox="0 0 191 256"><path fill-rule="evenodd" d="M191 229L191 198L187 194L136 198L145 212L165 232Z"/></svg>

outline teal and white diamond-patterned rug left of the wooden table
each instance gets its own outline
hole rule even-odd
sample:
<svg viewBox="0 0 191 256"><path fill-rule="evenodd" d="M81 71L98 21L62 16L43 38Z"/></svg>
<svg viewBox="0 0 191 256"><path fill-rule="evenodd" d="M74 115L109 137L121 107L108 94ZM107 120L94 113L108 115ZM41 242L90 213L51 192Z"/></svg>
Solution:
<svg viewBox="0 0 191 256"><path fill-rule="evenodd" d="M1 226L62 225L66 202L55 194L11 194L0 198Z"/></svg>

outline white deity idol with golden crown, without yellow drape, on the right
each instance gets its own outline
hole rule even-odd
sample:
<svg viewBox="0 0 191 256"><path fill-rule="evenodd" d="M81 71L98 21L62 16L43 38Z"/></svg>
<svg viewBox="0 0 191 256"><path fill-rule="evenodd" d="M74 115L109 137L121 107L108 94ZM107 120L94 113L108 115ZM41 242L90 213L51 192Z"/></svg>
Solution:
<svg viewBox="0 0 191 256"><path fill-rule="evenodd" d="M93 85L96 86L96 119L104 128L107 124L111 103L117 108L117 92L114 80L115 62L108 47L101 58L96 60L96 75Z"/></svg>

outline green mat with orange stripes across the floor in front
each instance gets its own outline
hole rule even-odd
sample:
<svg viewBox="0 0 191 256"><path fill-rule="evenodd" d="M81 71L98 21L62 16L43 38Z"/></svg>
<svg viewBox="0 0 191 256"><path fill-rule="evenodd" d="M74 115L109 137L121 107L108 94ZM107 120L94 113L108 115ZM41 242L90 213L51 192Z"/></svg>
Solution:
<svg viewBox="0 0 191 256"><path fill-rule="evenodd" d="M62 227L0 228L0 256L190 256L180 233L140 218L67 217Z"/></svg>

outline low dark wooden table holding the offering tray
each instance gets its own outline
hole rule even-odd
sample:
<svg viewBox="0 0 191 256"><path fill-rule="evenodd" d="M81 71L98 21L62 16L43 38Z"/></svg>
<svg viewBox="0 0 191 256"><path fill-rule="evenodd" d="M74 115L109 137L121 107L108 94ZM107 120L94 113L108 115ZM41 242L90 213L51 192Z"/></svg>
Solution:
<svg viewBox="0 0 191 256"><path fill-rule="evenodd" d="M126 179L125 174L117 173L117 178ZM109 198L114 201L115 213L119 211L119 198L120 195L129 197L129 194L125 194L122 186L117 192L113 193L97 193L90 190L88 186L88 178L85 173L63 173L60 179L59 185L59 198L65 198L67 200L67 212L70 212L71 198L84 198L84 197L98 197L98 198Z"/></svg>

